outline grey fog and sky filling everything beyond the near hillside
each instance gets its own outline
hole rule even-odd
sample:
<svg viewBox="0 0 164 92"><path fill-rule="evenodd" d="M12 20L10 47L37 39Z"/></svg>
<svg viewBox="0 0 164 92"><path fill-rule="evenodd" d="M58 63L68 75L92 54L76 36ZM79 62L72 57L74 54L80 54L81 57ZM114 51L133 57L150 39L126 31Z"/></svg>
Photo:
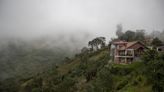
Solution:
<svg viewBox="0 0 164 92"><path fill-rule="evenodd" d="M163 17L164 0L0 0L0 80L64 62L95 37L108 42L117 24L164 39Z"/></svg>

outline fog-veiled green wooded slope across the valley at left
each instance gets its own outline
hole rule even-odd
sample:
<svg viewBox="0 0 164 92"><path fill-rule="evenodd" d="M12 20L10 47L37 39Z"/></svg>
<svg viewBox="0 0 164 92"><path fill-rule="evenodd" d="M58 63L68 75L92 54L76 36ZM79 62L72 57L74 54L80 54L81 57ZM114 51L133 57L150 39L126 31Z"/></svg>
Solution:
<svg viewBox="0 0 164 92"><path fill-rule="evenodd" d="M16 76L27 77L60 64L70 51L62 48L36 48L26 43L8 43L0 48L0 80Z"/></svg>

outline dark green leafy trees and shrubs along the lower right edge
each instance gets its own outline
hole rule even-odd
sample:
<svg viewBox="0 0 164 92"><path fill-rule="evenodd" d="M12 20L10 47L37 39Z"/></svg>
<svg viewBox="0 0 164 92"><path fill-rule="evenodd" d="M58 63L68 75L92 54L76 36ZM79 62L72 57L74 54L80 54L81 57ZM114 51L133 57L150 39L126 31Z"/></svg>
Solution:
<svg viewBox="0 0 164 92"><path fill-rule="evenodd" d="M154 92L164 91L164 53L157 53L154 50L145 52L145 75L152 83Z"/></svg>

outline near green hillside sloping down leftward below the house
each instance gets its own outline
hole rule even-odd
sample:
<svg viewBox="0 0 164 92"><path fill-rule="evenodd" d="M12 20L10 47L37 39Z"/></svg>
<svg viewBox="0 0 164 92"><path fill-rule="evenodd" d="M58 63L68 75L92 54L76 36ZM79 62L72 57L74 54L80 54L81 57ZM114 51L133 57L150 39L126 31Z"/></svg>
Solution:
<svg viewBox="0 0 164 92"><path fill-rule="evenodd" d="M143 60L150 60L150 57L145 55ZM164 55L160 54L156 60L163 60L162 57ZM155 92L152 91L155 81L162 81L153 79L156 74L152 67L156 67L159 74L163 71L163 67L157 68L158 64L164 65L160 61L158 64L134 62L121 65L109 60L107 47L94 53L81 53L43 73L3 81L0 89L1 92Z"/></svg>

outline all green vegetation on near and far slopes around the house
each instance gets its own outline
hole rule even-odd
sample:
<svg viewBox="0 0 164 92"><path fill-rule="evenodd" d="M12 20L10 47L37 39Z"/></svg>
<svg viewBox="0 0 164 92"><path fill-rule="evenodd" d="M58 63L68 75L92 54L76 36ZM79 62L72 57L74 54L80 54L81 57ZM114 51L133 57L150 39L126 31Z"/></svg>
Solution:
<svg viewBox="0 0 164 92"><path fill-rule="evenodd" d="M144 30L123 33L121 25L116 34L113 40L145 40ZM151 44L162 42L155 38ZM3 47L0 92L164 92L164 53L148 50L140 61L115 64L105 37L88 46L72 58L60 49L13 43Z"/></svg>

